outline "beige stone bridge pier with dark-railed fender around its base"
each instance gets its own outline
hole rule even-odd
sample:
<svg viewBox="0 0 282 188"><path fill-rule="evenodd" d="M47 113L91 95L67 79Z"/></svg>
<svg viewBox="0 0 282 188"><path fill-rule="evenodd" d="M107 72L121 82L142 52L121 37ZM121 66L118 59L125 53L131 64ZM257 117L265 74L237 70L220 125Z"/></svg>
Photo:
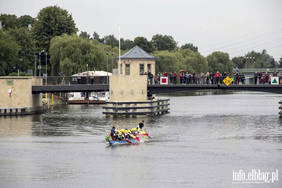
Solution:
<svg viewBox="0 0 282 188"><path fill-rule="evenodd" d="M147 76L109 76L110 101L104 102L106 116L155 115L168 112L168 98L151 101L147 96ZM150 100L148 100L150 99Z"/></svg>

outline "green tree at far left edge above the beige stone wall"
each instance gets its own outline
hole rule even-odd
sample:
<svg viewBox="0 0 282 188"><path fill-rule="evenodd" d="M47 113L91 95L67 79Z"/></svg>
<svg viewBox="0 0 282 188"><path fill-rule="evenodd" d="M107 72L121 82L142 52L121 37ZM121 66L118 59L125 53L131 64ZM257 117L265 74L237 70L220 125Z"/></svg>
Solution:
<svg viewBox="0 0 282 188"><path fill-rule="evenodd" d="M19 50L20 46L14 39L0 30L0 76L8 75L13 71Z"/></svg>

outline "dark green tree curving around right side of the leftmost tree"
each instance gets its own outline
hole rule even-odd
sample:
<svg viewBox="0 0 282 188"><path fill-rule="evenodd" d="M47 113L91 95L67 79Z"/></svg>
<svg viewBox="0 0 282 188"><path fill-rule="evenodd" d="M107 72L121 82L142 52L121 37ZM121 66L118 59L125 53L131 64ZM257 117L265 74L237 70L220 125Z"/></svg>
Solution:
<svg viewBox="0 0 282 188"><path fill-rule="evenodd" d="M16 43L20 46L16 66L22 71L33 69L33 55L36 53L36 47L31 32L28 28L22 27L19 29L9 29L7 33L12 36L14 41L16 41ZM22 61L19 61L19 59L22 59Z"/></svg>

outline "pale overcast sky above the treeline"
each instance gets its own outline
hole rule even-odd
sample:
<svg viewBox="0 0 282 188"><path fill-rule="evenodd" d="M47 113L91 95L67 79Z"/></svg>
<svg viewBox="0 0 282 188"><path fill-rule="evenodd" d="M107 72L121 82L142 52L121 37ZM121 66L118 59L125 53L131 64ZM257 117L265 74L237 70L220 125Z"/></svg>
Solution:
<svg viewBox="0 0 282 188"><path fill-rule="evenodd" d="M263 49L272 56L282 54L281 0L1 0L0 12L36 17L40 9L56 4L72 13L80 31L96 31L100 38L118 38L120 25L123 39L172 35L178 46L193 43L205 56L218 50L230 57Z"/></svg>

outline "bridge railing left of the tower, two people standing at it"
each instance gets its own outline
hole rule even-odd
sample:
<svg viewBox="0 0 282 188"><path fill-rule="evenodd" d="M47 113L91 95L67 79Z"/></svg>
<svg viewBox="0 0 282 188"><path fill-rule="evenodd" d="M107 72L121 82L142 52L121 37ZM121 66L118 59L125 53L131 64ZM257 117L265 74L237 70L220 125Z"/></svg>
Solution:
<svg viewBox="0 0 282 188"><path fill-rule="evenodd" d="M81 76L80 80L76 76L50 76L33 77L33 85L88 85L88 84L108 84L109 76Z"/></svg>

